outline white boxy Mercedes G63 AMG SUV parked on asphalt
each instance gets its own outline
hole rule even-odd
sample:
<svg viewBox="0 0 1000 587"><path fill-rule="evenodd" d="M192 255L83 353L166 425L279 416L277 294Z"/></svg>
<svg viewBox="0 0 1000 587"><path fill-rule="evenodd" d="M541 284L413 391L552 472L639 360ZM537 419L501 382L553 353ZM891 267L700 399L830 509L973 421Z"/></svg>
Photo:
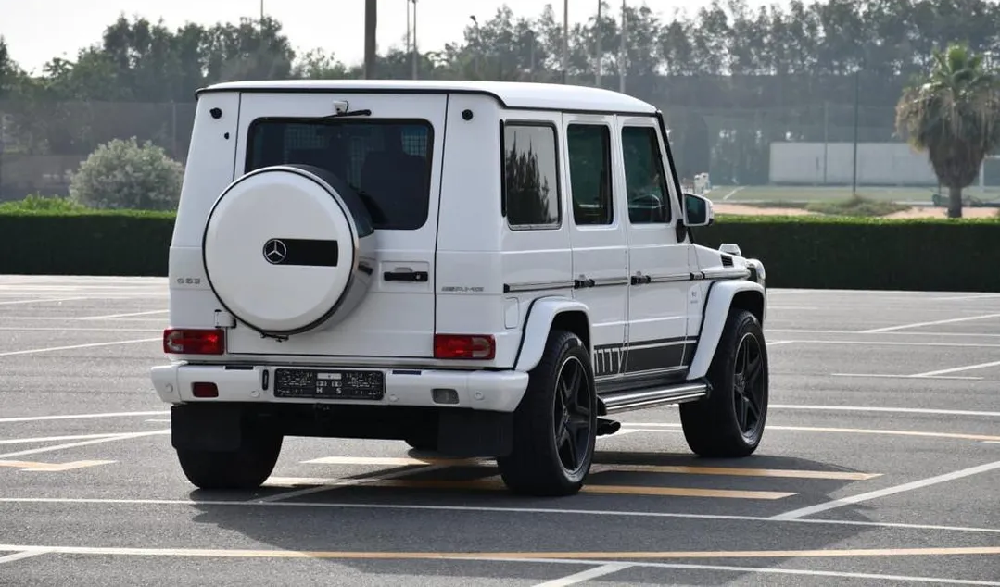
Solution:
<svg viewBox="0 0 1000 587"><path fill-rule="evenodd" d="M170 247L187 478L246 489L285 436L495 457L580 489L609 416L681 404L745 456L768 397L764 268L694 244L662 114L530 83L231 82L198 94Z"/></svg>

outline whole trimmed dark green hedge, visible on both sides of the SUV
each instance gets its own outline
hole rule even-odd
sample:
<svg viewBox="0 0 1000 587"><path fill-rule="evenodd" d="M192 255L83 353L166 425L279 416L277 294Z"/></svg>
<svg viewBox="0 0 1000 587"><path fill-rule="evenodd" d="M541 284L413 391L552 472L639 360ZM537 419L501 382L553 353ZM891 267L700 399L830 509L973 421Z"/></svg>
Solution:
<svg viewBox="0 0 1000 587"><path fill-rule="evenodd" d="M0 274L166 276L171 213L0 209ZM1000 292L1000 221L722 217L695 240L737 243L768 285Z"/></svg>

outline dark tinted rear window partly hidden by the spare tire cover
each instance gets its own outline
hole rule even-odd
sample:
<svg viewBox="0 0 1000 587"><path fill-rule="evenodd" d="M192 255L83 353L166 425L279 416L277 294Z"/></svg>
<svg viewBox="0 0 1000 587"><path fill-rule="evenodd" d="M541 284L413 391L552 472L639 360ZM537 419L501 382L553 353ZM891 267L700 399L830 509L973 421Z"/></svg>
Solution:
<svg viewBox="0 0 1000 587"><path fill-rule="evenodd" d="M246 171L323 168L366 200L376 229L417 230L427 221L433 148L425 120L259 119L250 125Z"/></svg>

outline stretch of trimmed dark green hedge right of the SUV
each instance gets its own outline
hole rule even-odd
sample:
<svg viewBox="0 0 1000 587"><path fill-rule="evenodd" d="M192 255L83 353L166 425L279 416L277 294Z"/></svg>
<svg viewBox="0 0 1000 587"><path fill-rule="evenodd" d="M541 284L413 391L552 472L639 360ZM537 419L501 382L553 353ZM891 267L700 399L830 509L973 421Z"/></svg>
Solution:
<svg viewBox="0 0 1000 587"><path fill-rule="evenodd" d="M728 217L695 240L740 245L774 287L1000 292L997 219Z"/></svg>

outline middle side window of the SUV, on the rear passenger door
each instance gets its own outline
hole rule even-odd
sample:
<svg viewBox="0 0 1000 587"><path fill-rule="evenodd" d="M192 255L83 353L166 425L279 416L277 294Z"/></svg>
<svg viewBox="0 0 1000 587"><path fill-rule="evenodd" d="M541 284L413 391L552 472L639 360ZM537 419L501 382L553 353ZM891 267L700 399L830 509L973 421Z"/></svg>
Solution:
<svg viewBox="0 0 1000 587"><path fill-rule="evenodd" d="M578 225L611 224L611 131L603 124L571 124L566 129L573 218Z"/></svg>

